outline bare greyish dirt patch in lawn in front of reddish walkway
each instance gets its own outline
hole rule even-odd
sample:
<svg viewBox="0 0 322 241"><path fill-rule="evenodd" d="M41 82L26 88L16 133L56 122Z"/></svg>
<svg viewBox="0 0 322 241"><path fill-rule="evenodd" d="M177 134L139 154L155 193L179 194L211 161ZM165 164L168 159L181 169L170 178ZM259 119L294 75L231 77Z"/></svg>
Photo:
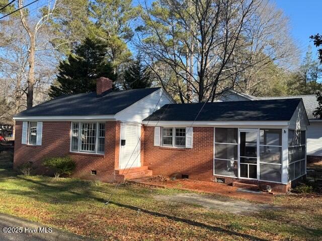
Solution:
<svg viewBox="0 0 322 241"><path fill-rule="evenodd" d="M166 202L188 203L200 205L208 209L217 209L234 214L251 214L263 209L278 208L269 204L256 204L228 198L217 198L214 196L201 195L197 193L179 193L175 195L157 195L156 200Z"/></svg>

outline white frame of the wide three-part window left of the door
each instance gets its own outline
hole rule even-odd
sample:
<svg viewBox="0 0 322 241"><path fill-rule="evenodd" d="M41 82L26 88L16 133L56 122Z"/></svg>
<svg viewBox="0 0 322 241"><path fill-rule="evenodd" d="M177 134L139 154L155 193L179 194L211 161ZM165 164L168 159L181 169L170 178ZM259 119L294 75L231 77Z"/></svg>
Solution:
<svg viewBox="0 0 322 241"><path fill-rule="evenodd" d="M72 140L72 124L73 123L78 123L78 151L72 151L71 150L71 140ZM95 137L95 151L82 151L81 150L81 129L82 129L82 124L96 124L96 137ZM104 124L105 125L105 135L106 135L106 123L105 122L71 122L70 123L70 147L69 147L69 152L73 153L85 153L85 154L96 154L96 155L104 155L105 154L105 145L104 145L104 152L98 152L98 139L99 139L99 124Z"/></svg>

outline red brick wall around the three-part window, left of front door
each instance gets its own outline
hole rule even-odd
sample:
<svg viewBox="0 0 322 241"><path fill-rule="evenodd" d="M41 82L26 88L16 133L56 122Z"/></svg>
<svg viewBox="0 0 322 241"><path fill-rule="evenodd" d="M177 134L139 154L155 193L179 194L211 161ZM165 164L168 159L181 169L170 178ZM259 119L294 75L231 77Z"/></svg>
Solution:
<svg viewBox="0 0 322 241"><path fill-rule="evenodd" d="M22 122L16 122L14 168L32 161L38 166L36 171L42 172L41 162L44 158L69 155L76 161L73 176L114 181L114 169L119 165L120 123L106 123L104 155L70 152L69 135L70 122L43 122L42 146L22 145ZM91 175L91 170L96 170L97 175Z"/></svg>

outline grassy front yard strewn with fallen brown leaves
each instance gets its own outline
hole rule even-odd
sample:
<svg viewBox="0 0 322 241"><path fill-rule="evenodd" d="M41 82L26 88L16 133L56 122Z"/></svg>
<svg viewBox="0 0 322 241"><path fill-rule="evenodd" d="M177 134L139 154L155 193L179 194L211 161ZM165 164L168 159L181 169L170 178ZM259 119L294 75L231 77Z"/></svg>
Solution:
<svg viewBox="0 0 322 241"><path fill-rule="evenodd" d="M274 207L241 215L155 198L177 189L125 184L105 205L112 184L21 176L11 161L0 154L0 212L99 240L322 240L318 196L275 196Z"/></svg>

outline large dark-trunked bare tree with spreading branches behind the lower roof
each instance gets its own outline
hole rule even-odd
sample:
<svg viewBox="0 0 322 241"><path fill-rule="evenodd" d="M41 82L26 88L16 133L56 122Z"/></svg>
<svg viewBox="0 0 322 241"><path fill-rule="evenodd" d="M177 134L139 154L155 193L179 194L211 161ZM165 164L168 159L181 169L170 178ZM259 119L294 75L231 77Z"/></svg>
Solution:
<svg viewBox="0 0 322 241"><path fill-rule="evenodd" d="M160 82L178 91L181 102L213 101L236 83L247 82L245 76L252 73L251 68L285 57L286 51L278 52L279 19L271 26L277 15L265 15L266 6L266 0L159 0L152 7L146 4L137 46L155 75L160 74L156 65L167 65L167 72L176 80L170 86L162 78Z"/></svg>

